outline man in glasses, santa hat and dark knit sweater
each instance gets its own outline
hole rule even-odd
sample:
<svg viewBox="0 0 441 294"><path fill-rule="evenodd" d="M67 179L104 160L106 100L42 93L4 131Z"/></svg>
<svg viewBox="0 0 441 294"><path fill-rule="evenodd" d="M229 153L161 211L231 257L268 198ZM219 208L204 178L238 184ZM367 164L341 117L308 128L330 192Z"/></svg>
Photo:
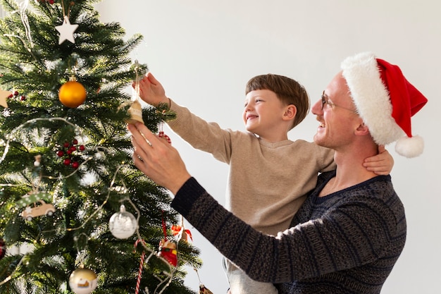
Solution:
<svg viewBox="0 0 441 294"><path fill-rule="evenodd" d="M173 192L172 207L250 278L275 283L279 293L380 293L404 247L406 220L390 176L367 171L363 162L378 145L396 140L400 154L420 154L410 117L426 102L397 66L370 53L346 59L312 108L320 122L314 142L335 150L337 170L319 176L291 228L277 236L223 209L178 152L141 123L129 126L133 159Z"/></svg>

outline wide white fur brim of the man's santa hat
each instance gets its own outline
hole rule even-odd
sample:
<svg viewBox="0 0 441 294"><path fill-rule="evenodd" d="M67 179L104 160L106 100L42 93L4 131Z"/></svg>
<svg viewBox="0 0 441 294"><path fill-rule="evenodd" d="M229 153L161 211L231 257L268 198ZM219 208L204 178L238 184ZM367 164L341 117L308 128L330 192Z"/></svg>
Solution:
<svg viewBox="0 0 441 294"><path fill-rule="evenodd" d="M356 54L342 62L342 74L356 109L378 145L387 145L406 135L392 118L389 92L383 84L375 56Z"/></svg>

